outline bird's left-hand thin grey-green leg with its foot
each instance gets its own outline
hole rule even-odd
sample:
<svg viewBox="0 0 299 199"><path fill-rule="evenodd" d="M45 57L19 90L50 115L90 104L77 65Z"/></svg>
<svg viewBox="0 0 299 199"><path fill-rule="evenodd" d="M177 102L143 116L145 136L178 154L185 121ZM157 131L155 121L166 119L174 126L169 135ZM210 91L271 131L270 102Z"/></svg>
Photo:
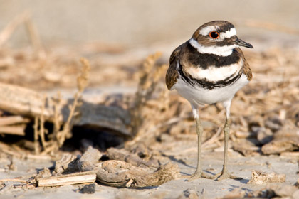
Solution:
<svg viewBox="0 0 299 199"><path fill-rule="evenodd" d="M188 181L192 181L196 178L208 178L208 179L214 179L214 176L210 176L202 171L201 168L201 137L204 129L201 126L201 121L199 117L195 116L196 120L196 133L197 133L197 167L196 171L193 173L193 175L188 179Z"/></svg>

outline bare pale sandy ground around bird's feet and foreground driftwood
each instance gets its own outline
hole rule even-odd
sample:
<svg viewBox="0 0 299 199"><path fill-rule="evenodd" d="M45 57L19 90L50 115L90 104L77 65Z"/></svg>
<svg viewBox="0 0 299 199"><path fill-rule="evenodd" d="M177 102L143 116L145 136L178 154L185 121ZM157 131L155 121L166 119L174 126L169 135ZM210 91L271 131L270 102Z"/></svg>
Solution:
<svg viewBox="0 0 299 199"><path fill-rule="evenodd" d="M194 143L190 143L194 145ZM175 152L175 151L172 151ZM223 152L205 152L203 154L203 168L206 172L215 174L221 171ZM182 176L189 175L196 168L196 153L190 153L184 156L185 161L178 159L172 161L177 163ZM252 193L255 190L261 190L271 185L293 185L297 182L298 157L287 158L279 156L256 156L243 157L240 154L230 151L229 170L233 171L235 176L243 178L241 181L225 179L223 181L214 181L209 179L198 179L186 181L186 178L178 178L159 187L152 188L112 188L105 185L96 184L95 193L83 194L78 189L83 185L65 185L58 188L17 188L18 183L11 182L6 190L1 190L1 198L188 198L187 195L197 193L202 198L220 198L238 188L240 191ZM6 158L1 158L1 165L8 164ZM14 178L23 176L24 173L35 173L43 167L53 166L51 161L20 161L14 158L16 171L1 171L1 178ZM265 172L284 173L286 175L285 183L270 183L268 185L253 185L248 183L251 178L252 170L262 170ZM12 187L10 186L12 185Z"/></svg>

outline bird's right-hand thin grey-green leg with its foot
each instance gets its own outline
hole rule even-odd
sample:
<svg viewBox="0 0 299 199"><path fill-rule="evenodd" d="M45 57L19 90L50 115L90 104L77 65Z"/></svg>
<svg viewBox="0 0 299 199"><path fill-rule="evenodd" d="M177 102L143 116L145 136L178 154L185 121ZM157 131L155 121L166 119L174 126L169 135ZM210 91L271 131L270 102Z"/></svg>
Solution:
<svg viewBox="0 0 299 199"><path fill-rule="evenodd" d="M226 117L226 122L224 124L224 167L222 168L221 173L216 174L217 181L221 181L225 178L231 178L236 180L241 180L243 178L238 178L236 176L231 175L227 170L227 158L228 158L228 146L229 146L229 131L231 126L231 119Z"/></svg>

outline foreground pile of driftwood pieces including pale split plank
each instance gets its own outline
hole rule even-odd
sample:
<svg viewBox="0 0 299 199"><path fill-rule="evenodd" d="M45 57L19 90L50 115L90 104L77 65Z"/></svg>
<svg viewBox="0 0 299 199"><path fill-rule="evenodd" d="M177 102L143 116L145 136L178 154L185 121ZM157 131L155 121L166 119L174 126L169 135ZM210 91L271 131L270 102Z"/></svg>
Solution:
<svg viewBox="0 0 299 199"><path fill-rule="evenodd" d="M53 173L49 173L49 170L45 168L44 171L36 175L35 180L31 183L36 183L38 186L58 186L93 183L96 178L100 183L113 187L148 187L162 185L180 175L179 166L173 163L151 169L133 166L125 161L100 162L101 156L100 151L91 146L80 158L65 155L60 161L56 161ZM73 171L75 173L61 175L75 168L80 172Z"/></svg>

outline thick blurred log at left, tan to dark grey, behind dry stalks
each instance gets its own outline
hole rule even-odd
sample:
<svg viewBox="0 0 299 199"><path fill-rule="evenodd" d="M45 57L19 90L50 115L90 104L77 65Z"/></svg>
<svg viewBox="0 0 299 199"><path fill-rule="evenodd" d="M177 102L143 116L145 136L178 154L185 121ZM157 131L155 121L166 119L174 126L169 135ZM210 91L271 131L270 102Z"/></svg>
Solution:
<svg viewBox="0 0 299 199"><path fill-rule="evenodd" d="M11 114L24 117L41 117L53 122L54 107L53 97L45 97L41 92L29 90L24 87L0 83L0 109ZM46 102L46 103L45 103ZM67 122L69 105L73 100L61 99L58 112L59 122ZM43 108L43 104L45 104ZM1 122L1 121L0 121ZM120 107L108 107L99 104L84 102L80 107L80 115L73 121L74 125L86 125L101 129L110 129L122 136L130 136L127 125L130 124L130 114Z"/></svg>

